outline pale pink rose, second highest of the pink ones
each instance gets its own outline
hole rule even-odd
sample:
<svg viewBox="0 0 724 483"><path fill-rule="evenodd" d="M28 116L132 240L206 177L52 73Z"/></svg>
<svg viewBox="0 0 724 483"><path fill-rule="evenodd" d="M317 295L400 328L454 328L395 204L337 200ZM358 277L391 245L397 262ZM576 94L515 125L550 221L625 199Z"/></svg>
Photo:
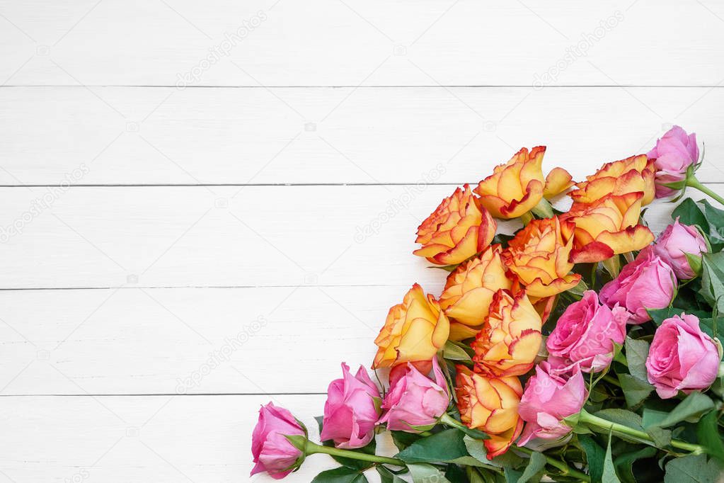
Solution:
<svg viewBox="0 0 724 483"><path fill-rule="evenodd" d="M702 252L707 252L707 242L702 234L688 224L679 223L678 218L661 232L654 243L654 253L673 269L679 280L696 277L684 253L699 256Z"/></svg>

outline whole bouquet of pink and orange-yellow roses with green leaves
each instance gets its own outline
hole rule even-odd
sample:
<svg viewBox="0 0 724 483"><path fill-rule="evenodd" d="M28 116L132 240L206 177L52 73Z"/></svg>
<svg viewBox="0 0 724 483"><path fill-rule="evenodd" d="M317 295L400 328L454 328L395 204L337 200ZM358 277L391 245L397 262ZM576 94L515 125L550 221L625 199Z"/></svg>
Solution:
<svg viewBox="0 0 724 483"><path fill-rule="evenodd" d="M284 408L261 408L252 474L281 479L313 453L340 463L313 482L724 481L724 211L683 199L694 134L581 182L518 151L445 198L414 253L450 272L439 297L413 285L374 340L373 382L342 364L322 444ZM572 199L565 211L555 206ZM681 201L654 236L644 206ZM512 235L496 219L517 219ZM395 455L376 454L388 431Z"/></svg>

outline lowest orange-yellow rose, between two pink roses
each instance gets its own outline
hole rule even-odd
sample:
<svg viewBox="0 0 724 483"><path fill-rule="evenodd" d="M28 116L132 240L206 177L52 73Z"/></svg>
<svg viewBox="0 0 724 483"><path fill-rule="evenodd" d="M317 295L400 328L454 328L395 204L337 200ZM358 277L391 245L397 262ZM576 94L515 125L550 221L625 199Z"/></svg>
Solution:
<svg viewBox="0 0 724 483"><path fill-rule="evenodd" d="M460 421L472 429L489 434L483 440L487 458L505 453L521 434L523 421L518 403L523 387L517 377L491 377L477 374L466 366L456 366L455 394L458 396Z"/></svg>

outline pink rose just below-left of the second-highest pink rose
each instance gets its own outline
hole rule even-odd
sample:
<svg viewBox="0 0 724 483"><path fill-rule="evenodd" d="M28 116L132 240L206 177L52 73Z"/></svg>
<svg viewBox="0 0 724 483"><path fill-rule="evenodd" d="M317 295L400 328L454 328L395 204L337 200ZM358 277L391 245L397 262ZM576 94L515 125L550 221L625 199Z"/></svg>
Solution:
<svg viewBox="0 0 724 483"><path fill-rule="evenodd" d="M636 260L623 267L618 277L603 286L601 301L610 308L617 304L631 312L629 324L651 320L649 308L665 308L676 292L676 275L652 250L644 248Z"/></svg>

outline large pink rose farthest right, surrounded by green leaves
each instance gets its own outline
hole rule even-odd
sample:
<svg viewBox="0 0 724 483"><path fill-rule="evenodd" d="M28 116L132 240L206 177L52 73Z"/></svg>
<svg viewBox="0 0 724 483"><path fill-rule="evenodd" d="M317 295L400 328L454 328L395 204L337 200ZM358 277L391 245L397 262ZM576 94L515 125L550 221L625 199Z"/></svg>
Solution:
<svg viewBox="0 0 724 483"><path fill-rule="evenodd" d="M659 397L668 399L680 390L689 394L712 385L720 359L717 345L699 329L699 319L681 314L656 329L646 369Z"/></svg>

